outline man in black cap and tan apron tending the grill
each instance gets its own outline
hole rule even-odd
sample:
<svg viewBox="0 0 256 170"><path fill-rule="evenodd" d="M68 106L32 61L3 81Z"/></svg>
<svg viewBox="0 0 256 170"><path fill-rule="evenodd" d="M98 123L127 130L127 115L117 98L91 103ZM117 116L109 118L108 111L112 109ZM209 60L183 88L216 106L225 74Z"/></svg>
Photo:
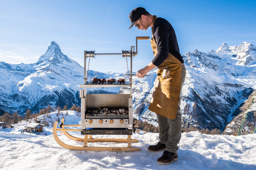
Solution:
<svg viewBox="0 0 256 170"><path fill-rule="evenodd" d="M149 110L157 114L159 142L148 146L152 152L164 150L157 162L170 164L178 160L178 146L181 138L180 95L185 81L186 69L179 53L177 38L172 25L164 18L152 16L144 8L138 7L129 14L131 27L141 30L152 27L152 61L136 73L144 77L148 71L158 67L154 92Z"/></svg>

